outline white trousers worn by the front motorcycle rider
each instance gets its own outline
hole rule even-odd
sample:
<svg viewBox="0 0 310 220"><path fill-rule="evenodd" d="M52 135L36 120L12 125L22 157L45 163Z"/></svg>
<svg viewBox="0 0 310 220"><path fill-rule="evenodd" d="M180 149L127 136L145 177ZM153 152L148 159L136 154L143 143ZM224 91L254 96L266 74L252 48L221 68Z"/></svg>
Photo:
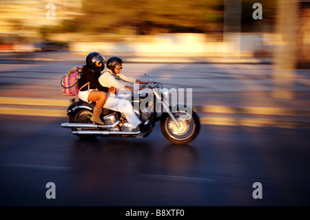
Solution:
<svg viewBox="0 0 310 220"><path fill-rule="evenodd" d="M132 103L126 99L117 97L112 92L107 93L107 101L105 101L103 108L108 108L116 112L122 112L125 115L127 121L132 124L132 128L136 128L141 123L140 119L134 112Z"/></svg>

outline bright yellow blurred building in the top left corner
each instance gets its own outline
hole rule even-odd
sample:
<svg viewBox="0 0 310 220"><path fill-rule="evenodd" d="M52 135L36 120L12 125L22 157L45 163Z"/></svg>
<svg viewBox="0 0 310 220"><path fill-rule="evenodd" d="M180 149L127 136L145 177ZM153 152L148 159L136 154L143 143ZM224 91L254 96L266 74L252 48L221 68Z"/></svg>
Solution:
<svg viewBox="0 0 310 220"><path fill-rule="evenodd" d="M39 37L43 26L57 26L79 13L81 0L0 0L0 34Z"/></svg>

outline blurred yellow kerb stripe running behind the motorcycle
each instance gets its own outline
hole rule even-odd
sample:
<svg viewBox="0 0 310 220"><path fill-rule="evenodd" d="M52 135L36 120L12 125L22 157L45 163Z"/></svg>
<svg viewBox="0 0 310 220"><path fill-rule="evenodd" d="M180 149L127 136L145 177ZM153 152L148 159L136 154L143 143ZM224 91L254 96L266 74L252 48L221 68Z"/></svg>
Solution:
<svg viewBox="0 0 310 220"><path fill-rule="evenodd" d="M69 104L68 100L61 99L0 97L2 105L0 114L67 117L66 110ZM200 114L200 123L206 125L310 128L310 110L306 109L211 105L193 106L193 108ZM236 114L245 116L240 117ZM249 117L251 114L255 116Z"/></svg>

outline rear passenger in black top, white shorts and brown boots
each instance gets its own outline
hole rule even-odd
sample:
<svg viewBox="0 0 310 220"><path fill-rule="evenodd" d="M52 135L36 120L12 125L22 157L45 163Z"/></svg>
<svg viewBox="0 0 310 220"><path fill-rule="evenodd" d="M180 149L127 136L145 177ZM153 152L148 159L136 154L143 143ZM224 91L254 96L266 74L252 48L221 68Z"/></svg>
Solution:
<svg viewBox="0 0 310 220"><path fill-rule="evenodd" d="M107 101L106 92L116 92L115 88L107 88L101 86L98 79L101 75L101 71L105 68L103 61L105 58L98 52L91 52L86 57L86 65L81 68L82 74L79 79L79 85L82 86L79 91L79 99L90 102L95 101L96 106L92 117L90 118L94 123L103 125L103 121L100 119L102 108ZM89 83L87 85L87 83ZM87 85L87 86L83 86Z"/></svg>

